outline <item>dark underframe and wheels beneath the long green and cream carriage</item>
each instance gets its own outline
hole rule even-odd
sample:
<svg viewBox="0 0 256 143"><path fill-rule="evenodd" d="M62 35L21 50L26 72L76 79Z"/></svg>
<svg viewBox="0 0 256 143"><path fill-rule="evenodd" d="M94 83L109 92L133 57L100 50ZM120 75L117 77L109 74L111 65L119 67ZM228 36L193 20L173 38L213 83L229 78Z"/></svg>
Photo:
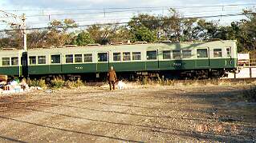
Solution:
<svg viewBox="0 0 256 143"><path fill-rule="evenodd" d="M152 79L207 79L226 77L227 72L235 72L235 69L204 69L204 70L157 70L157 71L131 71L116 72L119 80L137 81L144 77ZM63 80L75 81L81 79L83 81L107 81L107 73L72 73L72 74L46 74L46 75L28 75L30 79L43 78L51 81L55 78Z"/></svg>

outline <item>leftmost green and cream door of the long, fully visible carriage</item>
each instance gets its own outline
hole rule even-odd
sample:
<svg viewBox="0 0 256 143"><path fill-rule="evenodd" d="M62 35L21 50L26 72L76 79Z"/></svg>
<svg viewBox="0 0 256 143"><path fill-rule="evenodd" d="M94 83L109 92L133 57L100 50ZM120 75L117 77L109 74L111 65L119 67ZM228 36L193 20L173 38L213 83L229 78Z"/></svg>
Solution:
<svg viewBox="0 0 256 143"><path fill-rule="evenodd" d="M62 54L50 54L49 73L62 73Z"/></svg>

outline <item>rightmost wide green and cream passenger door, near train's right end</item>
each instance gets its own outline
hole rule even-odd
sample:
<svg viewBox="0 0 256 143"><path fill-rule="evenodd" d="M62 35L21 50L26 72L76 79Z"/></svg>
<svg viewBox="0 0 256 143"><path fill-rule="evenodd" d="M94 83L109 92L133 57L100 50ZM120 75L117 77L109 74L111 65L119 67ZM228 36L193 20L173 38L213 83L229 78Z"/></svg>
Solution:
<svg viewBox="0 0 256 143"><path fill-rule="evenodd" d="M208 69L209 68L209 48L198 48L197 49L197 69Z"/></svg>

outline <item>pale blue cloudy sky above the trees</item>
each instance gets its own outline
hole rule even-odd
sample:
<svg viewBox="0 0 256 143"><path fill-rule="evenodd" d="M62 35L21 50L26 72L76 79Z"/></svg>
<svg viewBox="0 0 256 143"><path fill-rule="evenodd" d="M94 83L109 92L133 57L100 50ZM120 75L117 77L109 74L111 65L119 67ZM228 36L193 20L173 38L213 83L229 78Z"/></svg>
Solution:
<svg viewBox="0 0 256 143"><path fill-rule="evenodd" d="M232 5L232 6L231 6ZM54 19L74 19L79 25L128 22L137 14L167 15L175 8L185 18L238 14L243 9L256 10L255 0L1 0L0 21L20 22L6 17L1 10L21 16L26 14L30 28L44 27ZM10 15L9 14L9 15ZM217 17L206 20L230 25L244 17ZM0 22L0 30L10 29Z"/></svg>

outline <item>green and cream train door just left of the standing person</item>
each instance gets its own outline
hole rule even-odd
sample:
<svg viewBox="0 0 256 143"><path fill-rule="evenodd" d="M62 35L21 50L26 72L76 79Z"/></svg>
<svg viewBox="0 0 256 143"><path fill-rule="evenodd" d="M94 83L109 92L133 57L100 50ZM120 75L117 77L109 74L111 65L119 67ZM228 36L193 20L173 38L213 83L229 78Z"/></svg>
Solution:
<svg viewBox="0 0 256 143"><path fill-rule="evenodd" d="M109 52L97 53L96 72L108 72L109 69Z"/></svg>

